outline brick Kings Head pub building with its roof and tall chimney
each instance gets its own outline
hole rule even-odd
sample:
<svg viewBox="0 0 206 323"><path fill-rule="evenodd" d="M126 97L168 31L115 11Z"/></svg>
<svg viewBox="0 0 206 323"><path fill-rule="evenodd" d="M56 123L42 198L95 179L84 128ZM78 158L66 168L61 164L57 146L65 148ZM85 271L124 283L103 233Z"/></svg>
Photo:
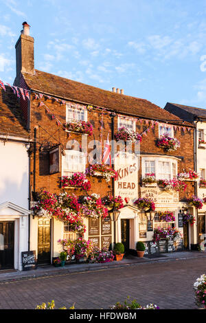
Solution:
<svg viewBox="0 0 206 323"><path fill-rule="evenodd" d="M41 190L49 194L65 192L76 197L83 196L82 201L92 194L101 198L121 196L124 208L110 213L113 221L110 216L106 219L82 216L86 227L84 239L91 240L100 248L122 242L126 252L133 252L137 241L152 241L155 228L172 226L183 234L183 247L191 249L196 227L183 225L181 214L186 209L194 211L187 203L187 198L195 194L194 182L188 181L187 188L178 192L164 190L159 187L158 181L172 180L184 168L194 170L192 124L148 100L126 96L123 90L113 88L106 91L34 69L34 38L30 36L30 25L27 23L23 23L16 43L14 86L29 93L29 98L20 95L18 102L25 129L32 139L29 250L36 252L38 265L51 263L52 258L59 255L62 251L59 239L74 241L79 236L68 221L62 221L58 216L49 217L46 212L34 212ZM72 128L81 122L87 125L84 129ZM137 134L138 139L130 144L126 153L119 148L118 138L121 139L122 129L126 129L127 134ZM165 151L157 145L165 133L179 141L176 150ZM93 151L100 156L99 160L96 157L97 162L102 164L107 140L112 143L111 157L117 177L101 177L94 172L87 176L91 183L87 191L77 186L62 185L61 180L65 177L71 178L77 172L85 173L91 165L89 157ZM154 187L145 187L143 179L148 173L155 174ZM155 202L155 214L137 207L134 202L140 197ZM173 212L175 221L160 221L159 216L165 211ZM152 248L154 245L150 243L148 252ZM164 250L164 246L161 247L161 251Z"/></svg>

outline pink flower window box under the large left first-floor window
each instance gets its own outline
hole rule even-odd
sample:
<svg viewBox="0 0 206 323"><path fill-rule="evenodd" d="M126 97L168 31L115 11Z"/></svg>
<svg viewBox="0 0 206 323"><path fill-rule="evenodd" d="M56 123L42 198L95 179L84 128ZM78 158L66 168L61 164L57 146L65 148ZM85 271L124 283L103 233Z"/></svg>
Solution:
<svg viewBox="0 0 206 323"><path fill-rule="evenodd" d="M86 175L82 172L75 172L71 177L63 176L61 181L62 187L66 188L72 186L74 188L81 188L81 190L88 191L91 188L91 183L88 181Z"/></svg>

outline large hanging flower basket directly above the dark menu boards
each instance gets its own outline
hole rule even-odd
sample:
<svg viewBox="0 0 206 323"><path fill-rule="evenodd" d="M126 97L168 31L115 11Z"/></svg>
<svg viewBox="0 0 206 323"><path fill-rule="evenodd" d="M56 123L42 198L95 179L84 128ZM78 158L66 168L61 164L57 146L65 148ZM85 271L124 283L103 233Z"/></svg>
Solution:
<svg viewBox="0 0 206 323"><path fill-rule="evenodd" d="M105 218L108 216L108 210L102 204L100 195L93 193L88 197L79 197L78 201L81 204L80 214L83 216L93 218Z"/></svg>

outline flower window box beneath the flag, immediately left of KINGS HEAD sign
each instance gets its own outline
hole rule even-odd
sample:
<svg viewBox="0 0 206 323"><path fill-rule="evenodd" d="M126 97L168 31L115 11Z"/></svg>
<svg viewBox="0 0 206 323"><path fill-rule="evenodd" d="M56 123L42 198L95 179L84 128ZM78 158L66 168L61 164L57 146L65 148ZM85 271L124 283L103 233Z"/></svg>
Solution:
<svg viewBox="0 0 206 323"><path fill-rule="evenodd" d="M108 182L112 178L117 177L117 172L108 165L95 164L95 165L90 165L86 169L86 175L103 177L106 180L106 182Z"/></svg>

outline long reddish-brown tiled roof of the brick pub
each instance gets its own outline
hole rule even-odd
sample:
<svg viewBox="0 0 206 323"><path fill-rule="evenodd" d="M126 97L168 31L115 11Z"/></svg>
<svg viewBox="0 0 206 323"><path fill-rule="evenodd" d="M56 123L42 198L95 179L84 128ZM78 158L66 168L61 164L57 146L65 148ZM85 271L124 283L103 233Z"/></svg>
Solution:
<svg viewBox="0 0 206 323"><path fill-rule="evenodd" d="M34 75L23 73L23 78L30 89L58 98L91 104L95 107L104 107L140 118L168 121L175 124L183 123L176 115L172 115L148 100L106 91L37 69Z"/></svg>

